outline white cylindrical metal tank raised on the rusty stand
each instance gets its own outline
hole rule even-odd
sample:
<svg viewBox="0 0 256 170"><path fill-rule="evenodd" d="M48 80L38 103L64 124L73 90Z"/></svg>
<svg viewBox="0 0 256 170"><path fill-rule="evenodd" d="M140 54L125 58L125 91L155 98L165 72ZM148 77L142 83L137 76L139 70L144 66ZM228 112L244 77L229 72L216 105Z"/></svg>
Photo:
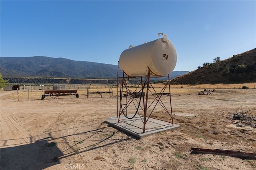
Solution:
<svg viewBox="0 0 256 170"><path fill-rule="evenodd" d="M176 66L177 54L169 39L159 38L122 52L119 58L121 70L128 76L162 76L170 74Z"/></svg>

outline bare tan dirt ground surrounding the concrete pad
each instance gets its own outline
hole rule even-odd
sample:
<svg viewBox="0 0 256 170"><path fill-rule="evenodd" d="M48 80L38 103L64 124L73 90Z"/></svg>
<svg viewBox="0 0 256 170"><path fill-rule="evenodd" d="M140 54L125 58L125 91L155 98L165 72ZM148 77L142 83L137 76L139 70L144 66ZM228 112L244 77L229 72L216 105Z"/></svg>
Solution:
<svg viewBox="0 0 256 170"><path fill-rule="evenodd" d="M256 153L256 128L223 113L256 109L256 89L216 89L212 95L198 95L201 90L172 88L174 123L181 127L143 139L103 123L117 115L117 98L108 94L87 98L85 91L78 91L79 98L41 100L41 91L0 92L0 169L256 169L256 159L190 151L196 147ZM154 117L166 118L161 111Z"/></svg>

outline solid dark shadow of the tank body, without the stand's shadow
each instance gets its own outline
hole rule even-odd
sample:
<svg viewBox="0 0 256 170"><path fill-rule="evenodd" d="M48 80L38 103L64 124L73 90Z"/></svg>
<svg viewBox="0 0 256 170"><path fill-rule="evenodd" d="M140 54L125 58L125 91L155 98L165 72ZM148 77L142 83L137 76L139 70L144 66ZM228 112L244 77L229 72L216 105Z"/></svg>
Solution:
<svg viewBox="0 0 256 170"><path fill-rule="evenodd" d="M42 170L59 164L55 157L62 152L56 143L48 143L46 140L36 141L26 145L6 147L0 149L1 170Z"/></svg>

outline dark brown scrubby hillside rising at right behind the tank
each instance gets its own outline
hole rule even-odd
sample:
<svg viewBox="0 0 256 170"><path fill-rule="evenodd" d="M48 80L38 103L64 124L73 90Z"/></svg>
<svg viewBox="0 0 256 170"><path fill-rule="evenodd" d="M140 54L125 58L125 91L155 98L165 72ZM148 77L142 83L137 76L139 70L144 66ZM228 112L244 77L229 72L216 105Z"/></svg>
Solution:
<svg viewBox="0 0 256 170"><path fill-rule="evenodd" d="M214 63L204 63L197 70L171 80L171 84L250 82L256 82L256 48L222 61L217 57Z"/></svg>

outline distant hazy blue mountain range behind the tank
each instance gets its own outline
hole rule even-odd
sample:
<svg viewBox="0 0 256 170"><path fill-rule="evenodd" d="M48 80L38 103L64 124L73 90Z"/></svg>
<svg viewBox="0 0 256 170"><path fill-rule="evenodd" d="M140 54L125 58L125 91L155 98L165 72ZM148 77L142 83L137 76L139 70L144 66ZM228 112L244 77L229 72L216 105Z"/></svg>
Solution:
<svg viewBox="0 0 256 170"><path fill-rule="evenodd" d="M117 65L43 56L0 57L3 78L117 78ZM170 78L188 71L174 71ZM119 69L118 75L122 75Z"/></svg>

